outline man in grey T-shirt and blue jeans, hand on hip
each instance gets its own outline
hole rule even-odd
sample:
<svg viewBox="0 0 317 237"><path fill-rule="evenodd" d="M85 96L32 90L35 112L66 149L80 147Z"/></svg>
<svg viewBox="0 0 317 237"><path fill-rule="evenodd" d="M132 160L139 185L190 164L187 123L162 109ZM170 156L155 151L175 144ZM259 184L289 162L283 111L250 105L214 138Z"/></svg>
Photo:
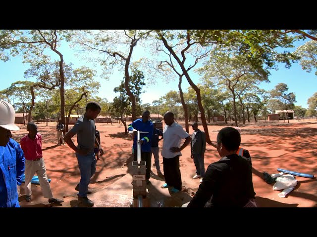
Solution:
<svg viewBox="0 0 317 237"><path fill-rule="evenodd" d="M101 111L100 105L95 102L89 102L86 106L86 113L77 119L75 125L64 137L67 145L76 153L78 166L80 170L80 182L75 189L79 191L78 200L85 206L93 206L94 202L87 197L90 178L96 172L96 158L94 153L95 144L95 121ZM77 143L72 142L71 138L77 134ZM101 156L104 151L100 148Z"/></svg>

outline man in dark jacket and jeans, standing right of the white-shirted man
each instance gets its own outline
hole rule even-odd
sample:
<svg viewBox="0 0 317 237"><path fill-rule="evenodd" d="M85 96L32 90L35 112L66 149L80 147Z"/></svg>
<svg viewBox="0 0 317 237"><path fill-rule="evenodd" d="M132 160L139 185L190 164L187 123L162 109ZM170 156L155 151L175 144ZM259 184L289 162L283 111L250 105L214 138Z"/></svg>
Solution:
<svg viewBox="0 0 317 237"><path fill-rule="evenodd" d="M192 125L194 130L191 140L191 155L190 158L194 159L196 166L196 175L193 179L200 179L200 183L203 182L205 176L205 164L204 164L204 155L206 151L206 134L198 129L198 123L194 122Z"/></svg>

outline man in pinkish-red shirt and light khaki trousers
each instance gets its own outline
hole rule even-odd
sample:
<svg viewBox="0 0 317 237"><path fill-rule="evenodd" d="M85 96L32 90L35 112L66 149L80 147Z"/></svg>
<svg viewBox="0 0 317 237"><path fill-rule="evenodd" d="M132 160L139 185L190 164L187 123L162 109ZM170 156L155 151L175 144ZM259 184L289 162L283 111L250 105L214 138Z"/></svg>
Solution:
<svg viewBox="0 0 317 237"><path fill-rule="evenodd" d="M49 198L49 202L61 203L64 200L54 198L48 177L46 175L46 168L42 156L42 135L38 133L38 126L34 122L29 122L27 130L29 133L21 138L20 144L25 157L25 183L24 191L26 194L25 200L31 200L31 179L37 173L39 177L40 187L45 198Z"/></svg>

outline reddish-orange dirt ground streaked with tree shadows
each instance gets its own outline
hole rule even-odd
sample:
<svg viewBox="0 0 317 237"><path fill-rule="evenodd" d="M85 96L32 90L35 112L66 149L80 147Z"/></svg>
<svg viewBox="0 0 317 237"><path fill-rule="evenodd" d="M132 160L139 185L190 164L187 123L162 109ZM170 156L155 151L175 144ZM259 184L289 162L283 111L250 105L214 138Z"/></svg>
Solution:
<svg viewBox="0 0 317 237"><path fill-rule="evenodd" d="M285 198L277 196L281 191L273 191L272 184L266 184L262 179L263 172L279 173L276 169L283 168L301 173L317 174L317 121L290 120L291 123L253 122L240 124L241 146L249 150L253 163L253 184L256 192L256 202L259 207L317 207L317 182L315 179L296 176L298 181L295 189ZM182 124L182 123L181 123ZM51 182L54 197L76 197L74 190L80 180L77 159L74 152L67 146L57 146L56 123L39 123L38 131L43 138L43 157L47 174ZM90 188L98 192L105 186L123 177L129 172L127 163L131 162L132 138L124 135L124 127L118 123L97 123L101 134L101 144L105 155L97 163L96 174L92 177ZM182 124L184 126L184 124ZM230 125L230 124L228 124ZM211 141L215 141L217 132L225 126L209 125ZM70 125L72 127L72 125ZM13 139L19 142L27 134L26 126L20 125L21 130L13 132ZM203 130L202 125L199 128ZM190 123L190 134L193 132ZM73 138L77 144L76 136ZM159 143L161 148L162 142ZM183 191L193 195L199 186L199 179L192 179L195 165L190 158L190 147L182 151L180 159ZM205 153L206 168L211 162L219 159L217 151L207 145ZM154 163L154 158L152 160ZM161 164L162 169L162 164ZM156 174L155 166L152 171ZM21 186L19 197L22 207L49 207L47 199L42 196L38 185L32 185L32 200L24 200L24 188ZM66 201L62 203L65 205Z"/></svg>

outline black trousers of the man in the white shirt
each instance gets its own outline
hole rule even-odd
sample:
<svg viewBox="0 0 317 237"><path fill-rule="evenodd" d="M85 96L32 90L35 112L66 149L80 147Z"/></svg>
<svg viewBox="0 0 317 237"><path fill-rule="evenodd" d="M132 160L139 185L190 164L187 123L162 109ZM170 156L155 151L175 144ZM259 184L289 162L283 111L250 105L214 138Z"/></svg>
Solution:
<svg viewBox="0 0 317 237"><path fill-rule="evenodd" d="M174 158L163 157L163 170L165 182L168 186L182 190L182 177L179 169L179 156Z"/></svg>

